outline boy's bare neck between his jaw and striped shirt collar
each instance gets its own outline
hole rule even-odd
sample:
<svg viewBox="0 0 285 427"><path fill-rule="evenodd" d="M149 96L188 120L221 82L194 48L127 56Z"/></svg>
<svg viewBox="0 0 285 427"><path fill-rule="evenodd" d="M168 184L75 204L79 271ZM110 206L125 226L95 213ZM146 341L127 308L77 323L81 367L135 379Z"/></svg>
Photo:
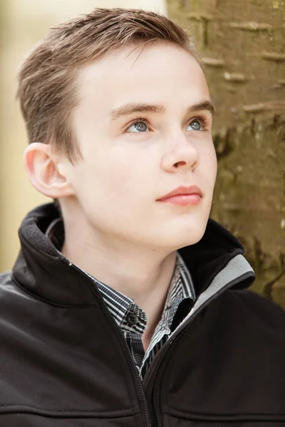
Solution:
<svg viewBox="0 0 285 427"><path fill-rule="evenodd" d="M80 223L80 230L76 224ZM81 221L66 221L63 255L95 279L130 297L147 315L142 337L148 347L165 305L176 251L163 253L130 242L112 241Z"/></svg>

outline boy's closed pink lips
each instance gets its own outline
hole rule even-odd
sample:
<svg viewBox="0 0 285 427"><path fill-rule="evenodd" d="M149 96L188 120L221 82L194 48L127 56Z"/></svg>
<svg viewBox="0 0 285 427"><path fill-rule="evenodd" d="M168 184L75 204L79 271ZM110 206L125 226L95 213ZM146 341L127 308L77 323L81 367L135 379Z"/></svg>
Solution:
<svg viewBox="0 0 285 427"><path fill-rule="evenodd" d="M202 190L196 185L180 186L160 197L157 201L178 206L196 206L202 201L202 196Z"/></svg>

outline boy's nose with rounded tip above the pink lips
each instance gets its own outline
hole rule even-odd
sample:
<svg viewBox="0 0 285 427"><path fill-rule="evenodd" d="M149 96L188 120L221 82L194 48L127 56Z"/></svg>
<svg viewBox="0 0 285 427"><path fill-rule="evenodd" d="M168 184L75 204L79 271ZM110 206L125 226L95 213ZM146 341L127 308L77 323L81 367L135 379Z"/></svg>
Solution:
<svg viewBox="0 0 285 427"><path fill-rule="evenodd" d="M199 153L190 138L185 135L172 137L170 149L162 157L161 166L166 172L177 172L177 169L194 172L199 166Z"/></svg>

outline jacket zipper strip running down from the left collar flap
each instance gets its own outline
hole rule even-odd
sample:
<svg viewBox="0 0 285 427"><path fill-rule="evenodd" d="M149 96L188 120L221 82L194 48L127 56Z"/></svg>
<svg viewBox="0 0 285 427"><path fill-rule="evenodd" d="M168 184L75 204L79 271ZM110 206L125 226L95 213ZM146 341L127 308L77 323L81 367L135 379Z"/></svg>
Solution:
<svg viewBox="0 0 285 427"><path fill-rule="evenodd" d="M144 412L144 416L145 416L145 427L152 427L151 419L150 419L150 411L149 411L148 405L147 405L147 398L145 396L145 390L143 389L143 386L142 386L142 380L140 379L140 375L138 373L138 368L135 366L135 361L133 360L133 356L130 352L128 344L125 342L125 337L123 335L123 332L120 330L120 328L118 327L117 323L115 322L113 316L110 314L108 307L107 307L102 295L100 294L99 290L95 287L94 281L91 278L89 278L89 276L86 273L83 273L83 271L80 268L76 267L76 265L74 265L73 263L68 261L67 258L63 258L63 262L67 263L70 268L73 268L73 270L76 270L76 272L79 273L79 275L81 275L81 277L83 277L84 280L88 280L90 282L90 284L95 289L96 294L99 296L100 301L103 303L103 307L105 308L107 315L110 317L110 319L113 322L113 324L115 325L116 329L119 331L121 341L123 342L123 347L125 348L125 351L127 352L128 358L130 359L130 362L131 362L132 367L133 367L133 374L135 376L135 383L137 385L137 389L139 391L140 399L142 401L142 408L143 408L143 412Z"/></svg>

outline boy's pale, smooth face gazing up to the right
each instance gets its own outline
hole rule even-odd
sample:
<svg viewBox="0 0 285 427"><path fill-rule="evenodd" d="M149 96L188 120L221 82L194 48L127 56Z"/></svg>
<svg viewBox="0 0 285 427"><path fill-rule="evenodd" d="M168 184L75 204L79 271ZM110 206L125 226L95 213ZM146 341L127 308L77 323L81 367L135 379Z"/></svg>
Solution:
<svg viewBox="0 0 285 427"><path fill-rule="evenodd" d="M167 43L130 46L88 65L77 88L72 123L83 161L63 164L86 221L110 238L153 249L199 241L217 161L211 112L190 111L210 99L195 59ZM202 198L158 200L192 185Z"/></svg>

